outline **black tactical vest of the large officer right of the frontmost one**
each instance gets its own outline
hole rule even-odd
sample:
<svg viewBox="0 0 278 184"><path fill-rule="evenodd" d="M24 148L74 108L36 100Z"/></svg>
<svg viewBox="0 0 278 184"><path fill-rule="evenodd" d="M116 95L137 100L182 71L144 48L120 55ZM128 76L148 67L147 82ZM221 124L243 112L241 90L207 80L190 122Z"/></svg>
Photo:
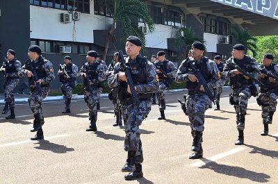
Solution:
<svg viewBox="0 0 278 184"><path fill-rule="evenodd" d="M192 69L189 65L189 62L192 62L192 61L188 61L188 62L185 62L184 64L186 64L186 68L188 69L188 71L190 71L190 69ZM202 76L204 77L204 79L206 80L206 82L208 83L209 81L211 81L211 79L213 78L213 74L211 74L209 71L208 71L208 58L206 57L203 57L202 60L200 62L196 62L194 61L193 62L193 67L195 67L196 69L198 69ZM189 79L186 80L186 88L188 89L188 91L199 91L199 89L197 89L198 87L198 82L192 82L190 81Z"/></svg>

